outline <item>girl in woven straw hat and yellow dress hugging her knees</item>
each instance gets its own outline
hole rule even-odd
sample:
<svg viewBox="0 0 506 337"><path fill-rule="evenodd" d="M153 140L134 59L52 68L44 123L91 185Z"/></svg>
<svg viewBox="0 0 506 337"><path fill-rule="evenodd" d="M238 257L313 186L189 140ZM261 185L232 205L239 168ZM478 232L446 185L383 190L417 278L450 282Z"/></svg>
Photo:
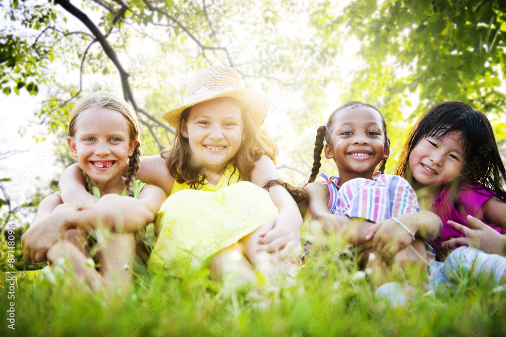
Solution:
<svg viewBox="0 0 506 337"><path fill-rule="evenodd" d="M253 281L254 268L270 276L294 272L302 251L299 208L282 186L261 188L278 178L276 146L260 129L267 108L267 97L243 88L235 69L210 66L190 79L184 104L162 114L176 128L173 144L143 157L138 170L140 180L169 196L155 224L150 271L184 276L212 261L219 278L235 273ZM64 172L62 198L91 201L78 196L78 175Z"/></svg>

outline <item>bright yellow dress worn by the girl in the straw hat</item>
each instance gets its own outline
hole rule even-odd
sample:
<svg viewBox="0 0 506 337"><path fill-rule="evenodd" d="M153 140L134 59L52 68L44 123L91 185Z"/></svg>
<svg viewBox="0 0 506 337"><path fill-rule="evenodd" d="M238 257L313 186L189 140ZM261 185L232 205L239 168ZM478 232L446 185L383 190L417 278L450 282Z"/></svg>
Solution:
<svg viewBox="0 0 506 337"><path fill-rule="evenodd" d="M158 212L158 238L148 261L149 271L181 276L278 213L269 192L239 181L233 169L229 165L217 185L205 181L200 189L175 182Z"/></svg>

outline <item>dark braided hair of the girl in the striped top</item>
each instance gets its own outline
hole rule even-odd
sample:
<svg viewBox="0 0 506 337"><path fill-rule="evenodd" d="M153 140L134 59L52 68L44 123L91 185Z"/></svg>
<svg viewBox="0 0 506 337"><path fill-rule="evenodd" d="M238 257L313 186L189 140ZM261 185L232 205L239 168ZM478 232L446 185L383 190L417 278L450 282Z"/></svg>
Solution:
<svg viewBox="0 0 506 337"><path fill-rule="evenodd" d="M390 147L390 139L388 139L388 134L387 134L387 122L385 121L385 117L383 117L383 114L378 110L378 108L376 108L373 105L363 103L363 102L358 102L358 101L348 102L348 103L342 105L341 107L335 109L334 112L332 112L330 114L330 116L328 117L327 124L318 127L318 130L316 131L315 149L314 149L314 154L313 154L314 162L313 162L313 168L311 169L311 175L309 177L308 183L315 181L316 176L318 175L318 173L320 171L321 151L323 150L323 146L324 146L323 140L325 140L325 142L329 146L332 146L332 140L330 139L330 134L332 133L332 127L334 125L335 116L342 113L342 112L345 112L347 110L355 109L355 108L362 108L362 107L371 108L373 110L376 110L379 113L379 115L381 116L381 119L382 119L383 133L385 134L385 148ZM379 162L375 171L379 171L379 172L383 173L385 171L386 163L387 163L387 160L383 159L381 162Z"/></svg>

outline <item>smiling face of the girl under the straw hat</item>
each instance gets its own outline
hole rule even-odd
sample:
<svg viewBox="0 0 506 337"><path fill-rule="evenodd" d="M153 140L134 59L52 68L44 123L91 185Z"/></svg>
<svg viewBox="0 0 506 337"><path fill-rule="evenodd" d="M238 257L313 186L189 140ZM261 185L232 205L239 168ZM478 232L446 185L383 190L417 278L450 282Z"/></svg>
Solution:
<svg viewBox="0 0 506 337"><path fill-rule="evenodd" d="M243 135L242 112L228 98L194 105L181 134L188 138L193 158L204 174L220 174L237 154Z"/></svg>

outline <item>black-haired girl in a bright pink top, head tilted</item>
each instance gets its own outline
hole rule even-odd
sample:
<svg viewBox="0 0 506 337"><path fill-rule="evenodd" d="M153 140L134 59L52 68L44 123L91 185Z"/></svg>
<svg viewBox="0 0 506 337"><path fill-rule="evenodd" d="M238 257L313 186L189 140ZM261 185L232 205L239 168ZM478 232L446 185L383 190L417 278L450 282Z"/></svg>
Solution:
<svg viewBox="0 0 506 337"><path fill-rule="evenodd" d="M438 261L446 259L445 278L473 266L475 274L504 280L506 172L483 113L461 102L429 109L411 130L397 174L410 181L422 209L443 221L432 246Z"/></svg>

